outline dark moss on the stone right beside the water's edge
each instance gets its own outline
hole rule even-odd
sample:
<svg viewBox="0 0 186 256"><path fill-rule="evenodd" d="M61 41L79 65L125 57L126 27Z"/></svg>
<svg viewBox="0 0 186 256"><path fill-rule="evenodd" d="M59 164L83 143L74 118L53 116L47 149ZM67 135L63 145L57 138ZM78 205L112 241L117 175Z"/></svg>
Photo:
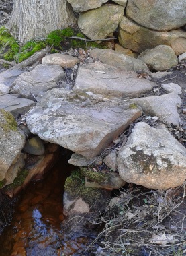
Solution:
<svg viewBox="0 0 186 256"><path fill-rule="evenodd" d="M85 177L79 170L71 172L71 176L65 181L64 189L70 197L82 197L90 205L101 197L101 189L85 187Z"/></svg>

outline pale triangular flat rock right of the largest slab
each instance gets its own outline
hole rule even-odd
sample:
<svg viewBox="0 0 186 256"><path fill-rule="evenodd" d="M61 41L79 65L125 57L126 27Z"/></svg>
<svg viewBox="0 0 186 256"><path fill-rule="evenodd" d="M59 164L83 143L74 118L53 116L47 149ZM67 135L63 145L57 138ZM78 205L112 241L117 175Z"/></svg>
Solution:
<svg viewBox="0 0 186 256"><path fill-rule="evenodd" d="M181 98L174 92L161 96L134 98L130 100L138 104L147 115L157 116L167 123L179 125L177 105Z"/></svg>

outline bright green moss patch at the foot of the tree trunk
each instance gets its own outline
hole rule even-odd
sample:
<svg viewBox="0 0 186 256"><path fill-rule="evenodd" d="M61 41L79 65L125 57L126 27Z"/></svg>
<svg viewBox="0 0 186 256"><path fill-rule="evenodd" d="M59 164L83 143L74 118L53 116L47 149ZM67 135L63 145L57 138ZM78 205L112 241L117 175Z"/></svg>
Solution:
<svg viewBox="0 0 186 256"><path fill-rule="evenodd" d="M20 63L37 51L44 49L47 45L51 47L51 53L58 53L68 49L75 48L105 48L103 44L96 42L85 42L79 39L71 39L71 36L85 38L85 35L73 28L64 30L55 30L50 32L44 40L32 40L25 44L19 44L10 34L9 30L2 26L0 28L0 58L6 61L15 61Z"/></svg>

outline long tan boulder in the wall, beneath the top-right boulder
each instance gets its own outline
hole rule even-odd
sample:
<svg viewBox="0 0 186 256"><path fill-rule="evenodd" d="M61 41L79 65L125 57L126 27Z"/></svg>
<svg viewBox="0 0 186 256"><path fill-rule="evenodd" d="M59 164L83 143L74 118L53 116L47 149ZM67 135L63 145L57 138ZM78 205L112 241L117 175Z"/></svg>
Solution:
<svg viewBox="0 0 186 256"><path fill-rule="evenodd" d="M173 48L176 55L186 52L186 32L183 30L171 30L160 32L140 26L123 17L119 27L119 42L125 48L141 53L158 45L167 45Z"/></svg>

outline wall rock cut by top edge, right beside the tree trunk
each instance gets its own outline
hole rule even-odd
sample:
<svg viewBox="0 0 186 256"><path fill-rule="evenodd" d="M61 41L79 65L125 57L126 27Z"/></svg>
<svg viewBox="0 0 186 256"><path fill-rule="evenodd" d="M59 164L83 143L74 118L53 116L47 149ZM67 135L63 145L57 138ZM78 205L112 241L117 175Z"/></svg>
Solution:
<svg viewBox="0 0 186 256"><path fill-rule="evenodd" d="M96 9L106 3L107 0L68 0L68 3L71 3L73 7L73 11L75 12L82 12L88 11L90 9Z"/></svg>

